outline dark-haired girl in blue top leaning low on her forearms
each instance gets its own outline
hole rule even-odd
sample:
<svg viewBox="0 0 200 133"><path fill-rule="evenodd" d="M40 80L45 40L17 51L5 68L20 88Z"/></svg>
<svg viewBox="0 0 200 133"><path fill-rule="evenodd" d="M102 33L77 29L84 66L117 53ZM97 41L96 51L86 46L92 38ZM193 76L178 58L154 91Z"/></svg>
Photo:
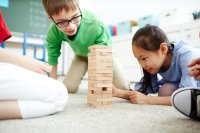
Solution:
<svg viewBox="0 0 200 133"><path fill-rule="evenodd" d="M187 67L200 52L182 41L170 43L160 28L146 25L139 29L132 39L132 50L144 76L134 91L114 88L113 96L138 104L171 105L170 97L176 89L200 86L199 81L188 75ZM158 97L149 96L150 93L158 93Z"/></svg>

